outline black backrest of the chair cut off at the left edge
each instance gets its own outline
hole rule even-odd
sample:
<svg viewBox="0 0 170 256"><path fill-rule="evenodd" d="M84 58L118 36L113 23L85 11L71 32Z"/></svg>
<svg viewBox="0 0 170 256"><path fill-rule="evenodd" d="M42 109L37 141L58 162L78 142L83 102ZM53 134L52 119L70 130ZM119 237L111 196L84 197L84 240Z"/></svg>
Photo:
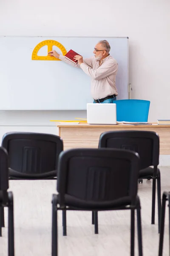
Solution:
<svg viewBox="0 0 170 256"><path fill-rule="evenodd" d="M0 204L6 204L8 188L8 152L0 147Z"/></svg>

